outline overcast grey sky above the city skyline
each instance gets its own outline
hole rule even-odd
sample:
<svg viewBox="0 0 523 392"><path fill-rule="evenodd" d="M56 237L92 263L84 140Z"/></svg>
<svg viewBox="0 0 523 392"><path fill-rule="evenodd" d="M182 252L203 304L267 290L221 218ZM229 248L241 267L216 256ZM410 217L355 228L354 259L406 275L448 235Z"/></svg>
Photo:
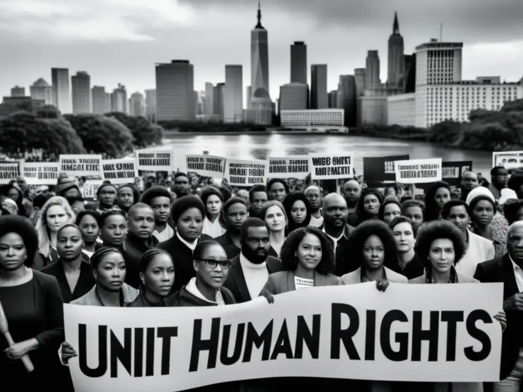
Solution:
<svg viewBox="0 0 523 392"><path fill-rule="evenodd" d="M243 64L250 84L250 32L257 0L0 0L0 95L51 67L87 71L92 85L128 93L154 88L154 63L190 60L195 89L224 82L225 64ZM405 53L439 38L459 41L463 78L523 76L522 0L261 0L268 30L270 95L290 80L290 45L305 41L308 68L328 64L328 89L365 67L379 50L386 79L387 40L398 12Z"/></svg>

